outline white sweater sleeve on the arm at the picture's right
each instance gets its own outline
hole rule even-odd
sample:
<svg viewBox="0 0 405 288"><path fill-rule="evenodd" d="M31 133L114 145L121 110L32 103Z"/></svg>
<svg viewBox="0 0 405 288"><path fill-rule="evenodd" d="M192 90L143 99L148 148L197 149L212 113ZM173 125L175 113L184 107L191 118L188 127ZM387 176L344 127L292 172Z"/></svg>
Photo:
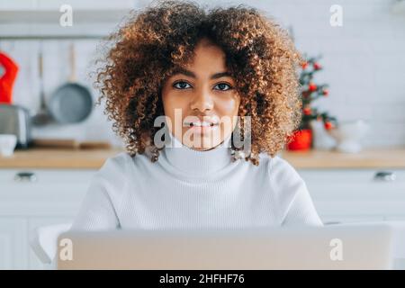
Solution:
<svg viewBox="0 0 405 288"><path fill-rule="evenodd" d="M271 185L275 189L281 224L322 226L323 223L311 200L310 192L298 172L282 157L270 161Z"/></svg>

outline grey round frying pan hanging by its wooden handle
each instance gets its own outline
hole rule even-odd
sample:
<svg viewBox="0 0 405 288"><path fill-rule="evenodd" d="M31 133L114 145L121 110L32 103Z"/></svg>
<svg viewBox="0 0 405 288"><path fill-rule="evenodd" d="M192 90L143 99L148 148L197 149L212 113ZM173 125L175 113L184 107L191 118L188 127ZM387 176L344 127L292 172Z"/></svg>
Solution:
<svg viewBox="0 0 405 288"><path fill-rule="evenodd" d="M92 94L84 85L76 83L76 52L73 43L70 45L69 62L69 82L55 90L48 105L52 117L63 124L84 121L93 109Z"/></svg>

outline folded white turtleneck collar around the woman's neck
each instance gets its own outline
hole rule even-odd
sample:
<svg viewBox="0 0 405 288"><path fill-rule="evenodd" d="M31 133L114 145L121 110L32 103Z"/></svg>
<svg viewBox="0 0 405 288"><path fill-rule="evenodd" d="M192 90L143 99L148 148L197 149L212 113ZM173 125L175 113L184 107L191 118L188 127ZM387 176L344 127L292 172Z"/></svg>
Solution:
<svg viewBox="0 0 405 288"><path fill-rule="evenodd" d="M199 151L185 146L169 131L169 145L162 150L162 157L172 166L187 175L202 176L214 174L231 161L230 140L232 134L220 145L210 150Z"/></svg>

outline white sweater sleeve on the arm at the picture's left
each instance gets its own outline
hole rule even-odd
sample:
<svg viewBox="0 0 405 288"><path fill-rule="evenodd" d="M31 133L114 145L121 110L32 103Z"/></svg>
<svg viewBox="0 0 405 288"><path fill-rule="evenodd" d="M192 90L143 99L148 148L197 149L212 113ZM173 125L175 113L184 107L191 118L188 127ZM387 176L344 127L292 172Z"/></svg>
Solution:
<svg viewBox="0 0 405 288"><path fill-rule="evenodd" d="M108 158L93 176L85 199L71 229L117 229L117 214L126 185L125 169L129 156L120 153Z"/></svg>

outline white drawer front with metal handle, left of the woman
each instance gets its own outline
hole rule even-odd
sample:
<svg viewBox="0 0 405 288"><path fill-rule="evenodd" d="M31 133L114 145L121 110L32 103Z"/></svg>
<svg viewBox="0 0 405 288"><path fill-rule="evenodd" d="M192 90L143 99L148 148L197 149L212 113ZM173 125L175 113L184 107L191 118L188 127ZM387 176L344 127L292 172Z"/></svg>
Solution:
<svg viewBox="0 0 405 288"><path fill-rule="evenodd" d="M74 215L95 171L0 169L0 216Z"/></svg>

